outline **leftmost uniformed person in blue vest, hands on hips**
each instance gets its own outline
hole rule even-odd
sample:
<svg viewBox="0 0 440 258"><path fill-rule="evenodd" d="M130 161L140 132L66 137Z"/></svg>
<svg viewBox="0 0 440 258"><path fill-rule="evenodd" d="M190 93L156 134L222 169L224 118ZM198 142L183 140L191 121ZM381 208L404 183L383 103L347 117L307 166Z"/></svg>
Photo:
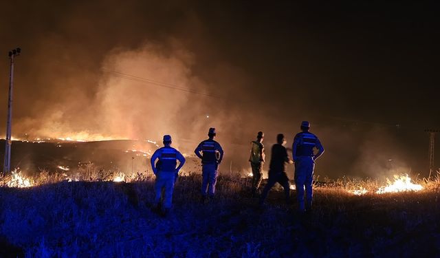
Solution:
<svg viewBox="0 0 440 258"><path fill-rule="evenodd" d="M156 160L158 161L156 162ZM179 160L179 166L177 166ZM164 147L157 149L151 156L151 168L156 175L155 182L155 205L158 210L162 207L162 213L166 215L171 208L173 201L173 188L175 179L182 166L185 164L185 158L177 149L171 147L171 136L164 136ZM176 167L177 166L177 167ZM162 189L164 189L164 204L160 203Z"/></svg>

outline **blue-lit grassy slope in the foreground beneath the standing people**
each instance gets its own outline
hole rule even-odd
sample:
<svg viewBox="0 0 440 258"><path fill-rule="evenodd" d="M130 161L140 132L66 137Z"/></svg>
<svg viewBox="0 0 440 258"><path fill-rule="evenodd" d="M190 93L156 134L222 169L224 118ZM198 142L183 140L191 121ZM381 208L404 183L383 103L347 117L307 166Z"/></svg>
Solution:
<svg viewBox="0 0 440 258"><path fill-rule="evenodd" d="M0 256L440 255L438 187L364 196L318 188L307 218L284 204L281 191L273 190L260 208L248 194L249 181L239 178L219 178L217 200L202 205L200 181L199 175L179 178L167 218L151 211L151 180L0 188Z"/></svg>

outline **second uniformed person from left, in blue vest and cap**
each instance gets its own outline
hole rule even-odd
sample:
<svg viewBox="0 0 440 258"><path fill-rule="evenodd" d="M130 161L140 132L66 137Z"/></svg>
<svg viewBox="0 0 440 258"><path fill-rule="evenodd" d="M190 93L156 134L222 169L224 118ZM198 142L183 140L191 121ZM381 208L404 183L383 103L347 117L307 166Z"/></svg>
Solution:
<svg viewBox="0 0 440 258"><path fill-rule="evenodd" d="M208 140L200 142L194 153L201 159L201 201L204 202L206 195L214 197L215 184L217 183L218 169L223 160L223 149L219 142L214 140L215 128L208 131Z"/></svg>

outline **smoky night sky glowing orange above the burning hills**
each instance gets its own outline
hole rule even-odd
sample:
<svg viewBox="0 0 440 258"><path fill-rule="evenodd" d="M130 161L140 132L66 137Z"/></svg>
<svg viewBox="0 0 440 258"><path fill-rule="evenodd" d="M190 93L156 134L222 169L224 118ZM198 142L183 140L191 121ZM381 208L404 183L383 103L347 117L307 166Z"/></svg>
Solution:
<svg viewBox="0 0 440 258"><path fill-rule="evenodd" d="M191 150L212 126L244 167L257 131L267 147L276 133L291 146L310 120L321 175L426 176L423 130L440 129L438 13L419 1L3 3L0 130L19 46L16 137L171 133Z"/></svg>

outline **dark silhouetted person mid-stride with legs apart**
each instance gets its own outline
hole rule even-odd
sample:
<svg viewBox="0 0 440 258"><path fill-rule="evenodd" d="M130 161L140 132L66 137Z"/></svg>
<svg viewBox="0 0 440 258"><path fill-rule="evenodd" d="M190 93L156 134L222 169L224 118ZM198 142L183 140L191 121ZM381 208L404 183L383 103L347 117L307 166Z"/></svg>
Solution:
<svg viewBox="0 0 440 258"><path fill-rule="evenodd" d="M287 178L287 173L285 169L285 164L292 164L292 160L289 159L287 155L287 149L284 147L286 144L286 139L283 133L279 133L276 136L276 144L272 146L272 156L270 157L270 165L269 165L269 179L267 180L267 184L263 189L263 193L260 197L260 204L264 203L264 200L267 197L270 189L277 182L281 184L284 189L285 198L287 204L289 203L290 198L290 184L289 178Z"/></svg>

